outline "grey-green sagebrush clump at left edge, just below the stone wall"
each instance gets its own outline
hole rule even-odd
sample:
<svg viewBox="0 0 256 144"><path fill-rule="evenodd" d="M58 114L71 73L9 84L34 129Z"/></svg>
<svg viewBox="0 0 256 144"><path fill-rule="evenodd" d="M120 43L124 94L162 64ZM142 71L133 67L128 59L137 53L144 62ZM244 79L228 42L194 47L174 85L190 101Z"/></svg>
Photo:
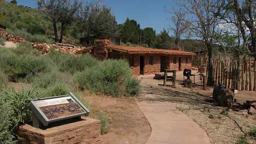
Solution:
<svg viewBox="0 0 256 144"><path fill-rule="evenodd" d="M36 73L51 70L49 60L37 56L38 54L33 51L26 53L28 48L25 47L31 48L30 45L21 45L17 50L5 49L0 53L0 68L8 75L10 81L17 82L22 78L35 76ZM21 52L22 49L25 49L25 52Z"/></svg>

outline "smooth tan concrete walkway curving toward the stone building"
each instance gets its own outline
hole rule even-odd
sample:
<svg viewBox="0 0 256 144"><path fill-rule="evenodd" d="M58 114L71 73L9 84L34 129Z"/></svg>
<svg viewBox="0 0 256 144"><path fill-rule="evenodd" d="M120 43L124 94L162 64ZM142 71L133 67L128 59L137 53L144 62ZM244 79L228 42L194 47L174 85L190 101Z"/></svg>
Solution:
<svg viewBox="0 0 256 144"><path fill-rule="evenodd" d="M146 144L210 144L199 125L160 95L152 94L148 85L142 84L137 103L152 129Z"/></svg>

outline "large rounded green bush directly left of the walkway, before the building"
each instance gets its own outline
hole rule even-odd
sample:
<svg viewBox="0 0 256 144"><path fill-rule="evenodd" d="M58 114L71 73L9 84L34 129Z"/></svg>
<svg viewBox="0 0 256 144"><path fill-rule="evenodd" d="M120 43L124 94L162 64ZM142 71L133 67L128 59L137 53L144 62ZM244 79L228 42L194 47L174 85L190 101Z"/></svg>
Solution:
<svg viewBox="0 0 256 144"><path fill-rule="evenodd" d="M102 92L118 96L136 94L139 81L132 78L130 67L126 60L104 60L98 65L79 72L75 81L82 89L92 92Z"/></svg>

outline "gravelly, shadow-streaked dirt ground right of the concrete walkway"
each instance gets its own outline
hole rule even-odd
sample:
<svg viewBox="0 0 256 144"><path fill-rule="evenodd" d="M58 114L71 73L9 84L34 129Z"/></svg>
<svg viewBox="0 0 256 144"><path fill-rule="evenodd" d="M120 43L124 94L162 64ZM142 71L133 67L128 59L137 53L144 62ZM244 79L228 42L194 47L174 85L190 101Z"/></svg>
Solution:
<svg viewBox="0 0 256 144"><path fill-rule="evenodd" d="M198 75L196 71L192 74ZM235 94L236 109L228 111L216 103L209 102L212 97L212 87L206 91L200 90L200 80L195 77L196 84L192 89L184 88L183 72L177 72L176 88L162 86L164 80L154 80L154 75L138 76L143 89L152 94L161 95L159 100L172 103L177 109L184 112L208 134L212 144L233 144L238 136L246 136L249 143L256 143L256 139L248 136L252 126L255 126L256 116L242 115L240 104L245 100L256 100L256 92L239 91ZM158 85L160 84L160 85ZM172 84L168 82L167 84ZM213 115L213 118L209 118Z"/></svg>

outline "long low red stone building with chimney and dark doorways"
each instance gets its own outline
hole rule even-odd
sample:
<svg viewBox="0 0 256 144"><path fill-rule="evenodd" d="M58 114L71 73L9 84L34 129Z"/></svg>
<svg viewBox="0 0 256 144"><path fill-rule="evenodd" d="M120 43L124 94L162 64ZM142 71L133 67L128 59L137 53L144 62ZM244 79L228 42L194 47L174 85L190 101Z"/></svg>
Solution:
<svg viewBox="0 0 256 144"><path fill-rule="evenodd" d="M89 49L88 49L89 50ZM164 69L183 71L192 67L192 52L181 51L180 47L169 50L145 47L111 45L109 40L96 40L90 51L99 59L127 59L133 75L149 75Z"/></svg>

